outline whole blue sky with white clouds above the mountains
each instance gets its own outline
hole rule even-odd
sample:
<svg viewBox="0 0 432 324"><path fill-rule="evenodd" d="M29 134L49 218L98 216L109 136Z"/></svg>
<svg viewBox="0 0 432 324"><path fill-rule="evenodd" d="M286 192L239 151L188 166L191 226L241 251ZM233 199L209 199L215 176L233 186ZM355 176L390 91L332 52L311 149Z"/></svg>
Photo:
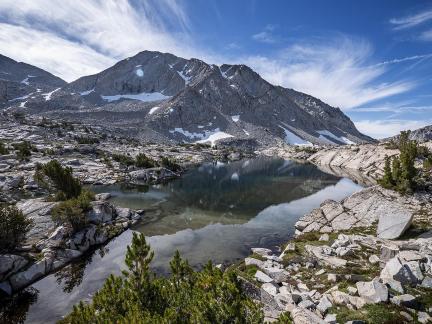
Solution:
<svg viewBox="0 0 432 324"><path fill-rule="evenodd" d="M374 137L432 124L431 1L2 0L0 48L68 81L146 49L245 63Z"/></svg>

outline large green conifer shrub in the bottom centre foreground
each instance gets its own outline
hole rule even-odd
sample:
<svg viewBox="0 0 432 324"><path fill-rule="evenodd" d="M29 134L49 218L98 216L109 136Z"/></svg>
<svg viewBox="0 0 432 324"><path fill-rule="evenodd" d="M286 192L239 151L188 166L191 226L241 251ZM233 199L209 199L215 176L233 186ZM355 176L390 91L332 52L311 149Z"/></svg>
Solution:
<svg viewBox="0 0 432 324"><path fill-rule="evenodd" d="M171 275L150 270L153 252L143 234L133 234L127 270L111 275L90 304L80 303L60 323L262 323L263 313L242 291L233 272L208 263L194 271L178 252Z"/></svg>

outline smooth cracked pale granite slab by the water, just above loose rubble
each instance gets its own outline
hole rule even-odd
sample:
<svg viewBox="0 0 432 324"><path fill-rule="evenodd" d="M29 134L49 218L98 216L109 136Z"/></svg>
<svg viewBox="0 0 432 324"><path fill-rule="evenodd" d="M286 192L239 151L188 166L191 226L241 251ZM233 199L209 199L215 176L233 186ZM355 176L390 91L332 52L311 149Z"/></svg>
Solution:
<svg viewBox="0 0 432 324"><path fill-rule="evenodd" d="M295 224L296 235L315 231L330 233L378 223L379 237L395 239L405 232L424 204L430 206L429 200L427 193L402 196L380 186L365 188L341 202L324 201L299 219Z"/></svg>

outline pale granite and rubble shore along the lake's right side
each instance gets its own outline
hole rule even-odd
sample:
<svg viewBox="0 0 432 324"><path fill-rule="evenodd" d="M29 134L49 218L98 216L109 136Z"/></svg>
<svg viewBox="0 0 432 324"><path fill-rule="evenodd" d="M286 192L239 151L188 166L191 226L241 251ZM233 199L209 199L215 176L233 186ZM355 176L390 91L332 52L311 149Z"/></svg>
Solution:
<svg viewBox="0 0 432 324"><path fill-rule="evenodd" d="M329 172L354 170L372 183L383 174L385 156L398 154L384 144L267 153L275 151ZM405 196L373 185L322 202L295 229L282 253L253 248L237 266L266 321L432 323L430 192Z"/></svg>

